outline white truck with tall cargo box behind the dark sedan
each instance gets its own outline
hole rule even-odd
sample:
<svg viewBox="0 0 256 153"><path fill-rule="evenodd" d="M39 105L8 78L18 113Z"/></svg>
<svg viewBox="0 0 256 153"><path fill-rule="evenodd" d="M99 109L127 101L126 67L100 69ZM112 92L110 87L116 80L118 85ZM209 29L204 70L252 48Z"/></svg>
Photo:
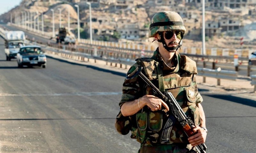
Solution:
<svg viewBox="0 0 256 153"><path fill-rule="evenodd" d="M25 46L25 33L23 31L6 31L5 32L5 48L6 61L16 58L20 47Z"/></svg>

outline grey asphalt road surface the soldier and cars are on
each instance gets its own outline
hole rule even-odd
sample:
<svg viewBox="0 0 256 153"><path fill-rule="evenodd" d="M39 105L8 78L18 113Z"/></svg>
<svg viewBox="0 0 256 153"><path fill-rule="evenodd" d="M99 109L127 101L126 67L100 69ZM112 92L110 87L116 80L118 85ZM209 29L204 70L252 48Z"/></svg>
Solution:
<svg viewBox="0 0 256 153"><path fill-rule="evenodd" d="M52 58L46 69L18 69L0 45L1 152L135 153L139 143L114 127L123 81L115 72ZM255 153L256 102L201 93L207 153Z"/></svg>

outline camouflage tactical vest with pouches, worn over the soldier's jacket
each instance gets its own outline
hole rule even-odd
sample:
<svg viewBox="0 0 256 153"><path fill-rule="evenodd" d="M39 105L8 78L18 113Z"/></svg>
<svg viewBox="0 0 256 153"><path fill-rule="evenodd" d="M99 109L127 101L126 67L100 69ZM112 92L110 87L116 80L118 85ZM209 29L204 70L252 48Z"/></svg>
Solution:
<svg viewBox="0 0 256 153"><path fill-rule="evenodd" d="M179 71L177 73L167 74L164 77L159 68L159 63L155 60L151 58L139 58L136 61L139 65L143 66L144 74L148 79L160 91L162 88L162 90L171 92L185 114L189 115L196 125L199 125L199 108L196 106L195 95L196 83L193 80L194 75L197 74L196 63L185 55L180 55L180 57L182 64ZM154 95L154 92L148 87L146 94ZM198 96L200 96L199 93ZM164 108L153 112L145 106L133 117L133 121L136 121L132 125L131 138L137 139L140 143L147 143L152 146L156 144L188 143L187 136L175 120L173 120L172 127L170 127L170 141L161 142L161 134L168 116L169 114Z"/></svg>

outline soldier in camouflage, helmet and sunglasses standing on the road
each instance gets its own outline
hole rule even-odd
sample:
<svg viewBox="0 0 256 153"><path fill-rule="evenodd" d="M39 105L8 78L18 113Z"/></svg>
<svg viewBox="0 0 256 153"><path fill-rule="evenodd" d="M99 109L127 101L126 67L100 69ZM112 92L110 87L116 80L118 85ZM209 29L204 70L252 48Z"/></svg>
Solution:
<svg viewBox="0 0 256 153"><path fill-rule="evenodd" d="M200 104L203 98L196 85L196 62L177 52L185 32L177 12L156 13L151 20L149 37L158 41L158 48L151 58L136 59L127 75L142 66L142 73L160 91L172 92L182 110L193 120L196 134L187 138L178 122L173 120L169 127L170 139L163 143L161 134L168 117L168 105L157 98L140 77L125 80L119 106L123 116L131 119L131 138L140 142L139 153L195 153L193 146L205 142L207 129Z"/></svg>

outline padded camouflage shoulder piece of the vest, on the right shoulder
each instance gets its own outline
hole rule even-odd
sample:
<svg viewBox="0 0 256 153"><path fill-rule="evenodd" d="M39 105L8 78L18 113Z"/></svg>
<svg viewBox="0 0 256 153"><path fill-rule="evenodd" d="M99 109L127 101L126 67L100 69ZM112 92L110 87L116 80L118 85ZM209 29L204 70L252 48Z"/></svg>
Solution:
<svg viewBox="0 0 256 153"><path fill-rule="evenodd" d="M180 55L181 57L181 65L180 69L183 69L191 74L198 74L197 73L197 68L196 68L196 62L189 58L186 55Z"/></svg>

